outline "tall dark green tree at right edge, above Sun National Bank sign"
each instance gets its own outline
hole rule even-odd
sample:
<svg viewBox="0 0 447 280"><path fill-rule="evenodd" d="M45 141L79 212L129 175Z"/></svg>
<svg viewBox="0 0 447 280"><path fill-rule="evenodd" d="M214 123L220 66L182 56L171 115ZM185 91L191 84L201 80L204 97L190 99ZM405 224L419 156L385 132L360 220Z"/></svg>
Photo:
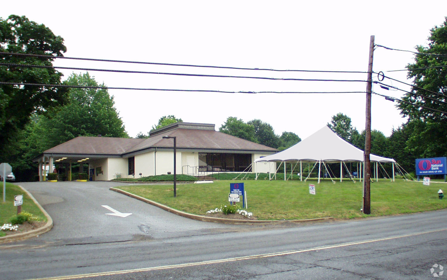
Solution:
<svg viewBox="0 0 447 280"><path fill-rule="evenodd" d="M447 17L430 30L428 40L428 47L417 46L415 62L407 66L408 77L414 80L403 100L415 105L398 105L414 128L407 148L417 157L447 155L447 114L443 113L447 112Z"/></svg>

